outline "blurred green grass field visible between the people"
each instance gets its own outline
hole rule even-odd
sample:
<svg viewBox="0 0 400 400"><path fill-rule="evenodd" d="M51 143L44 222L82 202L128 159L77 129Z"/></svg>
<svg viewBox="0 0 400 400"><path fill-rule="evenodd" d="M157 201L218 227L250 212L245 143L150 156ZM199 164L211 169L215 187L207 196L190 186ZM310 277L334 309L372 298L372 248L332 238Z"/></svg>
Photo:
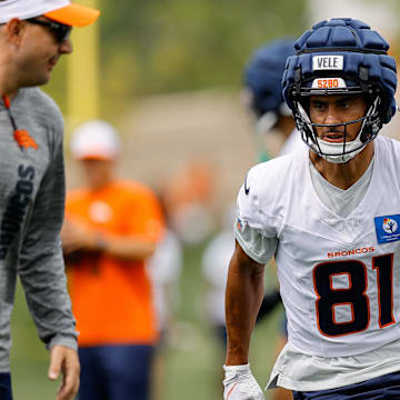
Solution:
<svg viewBox="0 0 400 400"><path fill-rule="evenodd" d="M202 312L206 289L200 269L202 250L203 246L199 246L184 253L174 346L160 353L158 383L154 383L157 400L222 399L223 349ZM270 280L273 281L273 278ZM267 383L271 369L280 314L277 310L263 320L252 338L251 364L261 387ZM48 352L38 339L20 287L12 318L11 369L16 400L56 399L59 383L50 382L47 378Z"/></svg>

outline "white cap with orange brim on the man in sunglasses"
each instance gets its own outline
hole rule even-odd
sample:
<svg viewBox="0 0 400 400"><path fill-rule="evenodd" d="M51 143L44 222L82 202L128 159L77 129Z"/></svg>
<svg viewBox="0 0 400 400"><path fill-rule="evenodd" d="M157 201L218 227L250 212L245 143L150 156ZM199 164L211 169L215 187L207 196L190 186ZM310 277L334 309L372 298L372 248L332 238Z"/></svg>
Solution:
<svg viewBox="0 0 400 400"><path fill-rule="evenodd" d="M99 14L99 10L81 4L73 4L69 0L0 1L0 23L8 22L12 18L26 20L46 16L71 27L86 27L94 22Z"/></svg>

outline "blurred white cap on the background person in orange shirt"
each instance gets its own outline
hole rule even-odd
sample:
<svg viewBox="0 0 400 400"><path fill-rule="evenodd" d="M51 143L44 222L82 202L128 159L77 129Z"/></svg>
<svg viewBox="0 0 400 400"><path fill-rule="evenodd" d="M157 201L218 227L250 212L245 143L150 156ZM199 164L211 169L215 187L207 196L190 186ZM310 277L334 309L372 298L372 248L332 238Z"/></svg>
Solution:
<svg viewBox="0 0 400 400"><path fill-rule="evenodd" d="M92 120L80 124L72 133L71 153L79 160L113 160L119 154L120 139L108 122Z"/></svg>

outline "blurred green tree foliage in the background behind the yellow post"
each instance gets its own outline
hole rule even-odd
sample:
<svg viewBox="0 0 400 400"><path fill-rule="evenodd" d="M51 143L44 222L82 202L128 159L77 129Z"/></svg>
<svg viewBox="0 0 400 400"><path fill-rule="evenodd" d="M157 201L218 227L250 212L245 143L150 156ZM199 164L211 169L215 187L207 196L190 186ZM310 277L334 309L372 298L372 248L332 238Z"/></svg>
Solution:
<svg viewBox="0 0 400 400"><path fill-rule="evenodd" d="M238 88L257 46L304 30L304 2L100 0L101 114L143 94ZM61 64L48 90L63 108Z"/></svg>

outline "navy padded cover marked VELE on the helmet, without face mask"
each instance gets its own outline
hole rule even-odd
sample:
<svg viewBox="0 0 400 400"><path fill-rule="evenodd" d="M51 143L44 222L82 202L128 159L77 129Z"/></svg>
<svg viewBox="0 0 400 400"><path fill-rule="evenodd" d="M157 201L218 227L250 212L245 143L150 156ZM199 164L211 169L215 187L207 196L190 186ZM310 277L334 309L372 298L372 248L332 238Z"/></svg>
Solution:
<svg viewBox="0 0 400 400"><path fill-rule="evenodd" d="M356 82L363 92L379 92L382 122L390 121L396 112L396 61L387 54L389 43L367 23L350 18L321 21L304 32L294 48L297 53L288 59L282 78L283 97L292 111L293 100L307 94L306 82L339 77ZM316 68L316 59L333 57L340 60L339 68ZM331 89L326 94L334 92Z"/></svg>

